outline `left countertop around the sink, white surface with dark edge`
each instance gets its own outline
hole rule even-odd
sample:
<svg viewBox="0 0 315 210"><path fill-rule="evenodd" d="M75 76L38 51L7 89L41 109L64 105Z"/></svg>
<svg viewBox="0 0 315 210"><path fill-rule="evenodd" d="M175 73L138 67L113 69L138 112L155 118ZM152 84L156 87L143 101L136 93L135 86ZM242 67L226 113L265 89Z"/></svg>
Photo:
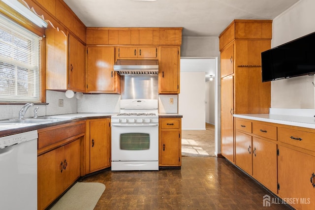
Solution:
<svg viewBox="0 0 315 210"><path fill-rule="evenodd" d="M0 124L0 137L13 135L17 133L23 133L31 130L38 130L40 128L50 127L54 125L60 125L69 122L75 122L80 120L98 119L98 118L111 118L112 115L118 113L74 113L65 115L53 115L58 117L71 117L74 119L49 121L40 124ZM39 116L42 117L42 116Z"/></svg>

